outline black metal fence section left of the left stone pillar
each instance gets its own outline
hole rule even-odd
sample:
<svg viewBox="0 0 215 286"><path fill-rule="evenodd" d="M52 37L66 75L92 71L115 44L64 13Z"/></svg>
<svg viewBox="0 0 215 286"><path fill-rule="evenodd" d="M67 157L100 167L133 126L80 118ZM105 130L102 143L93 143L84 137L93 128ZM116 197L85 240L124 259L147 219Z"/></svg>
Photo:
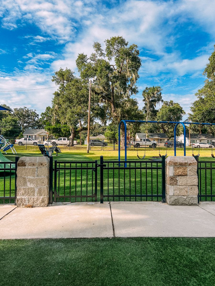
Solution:
<svg viewBox="0 0 215 286"><path fill-rule="evenodd" d="M16 204L16 170L19 157L15 162L1 162L0 164L0 204Z"/></svg>

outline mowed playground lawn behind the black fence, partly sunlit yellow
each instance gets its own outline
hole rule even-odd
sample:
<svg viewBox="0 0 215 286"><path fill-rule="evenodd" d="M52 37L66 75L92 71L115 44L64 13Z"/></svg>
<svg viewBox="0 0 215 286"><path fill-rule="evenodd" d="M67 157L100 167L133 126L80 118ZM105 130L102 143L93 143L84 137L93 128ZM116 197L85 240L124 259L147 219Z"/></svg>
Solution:
<svg viewBox="0 0 215 286"><path fill-rule="evenodd" d="M25 150L26 146L15 146L17 150L17 156L42 156L37 146L27 146L27 150ZM83 168L91 168L95 166L95 163L92 165L90 162L95 162L97 160L98 164L100 163L100 156L103 156L104 161L109 160L118 160L118 151L108 150L104 151L100 150L100 147L94 147L93 150L90 151L89 154L86 152L86 148L80 148L80 146L76 146L69 150L68 147L60 147L62 153L59 153L56 157L56 153L53 154L53 160L57 160L65 162L65 164L57 164L59 167L83 167ZM84 149L85 148L85 149ZM192 155L192 148L187 147L187 155ZM144 154L144 148L139 148L139 155L142 156ZM164 155L166 152L166 148L160 148L160 153ZM197 149L194 149L195 154L198 153ZM167 148L167 154L169 156L173 155L173 148ZM210 149L202 149L200 150L199 160L206 160L215 163L215 159L213 159L211 155ZM159 150L156 148L155 150L146 148L146 157L144 161L148 161L148 159L152 156L158 156ZM183 156L183 149L177 148L177 155ZM204 157L202 157L204 156ZM8 152L5 155L6 158L11 161L15 160L15 155ZM140 160L136 157L136 150L134 148L129 148L127 152L128 161L135 160L139 162ZM121 160L124 159L124 150L121 150ZM75 163L68 164L68 161L75 161ZM82 163L83 161L87 161L89 163ZM202 165L203 167L207 166L212 168L215 167L214 163L207 163ZM107 164L106 164L107 165ZM104 170L104 194L107 195L147 195L147 197L132 197L132 198L123 198L123 197L110 197L109 200L136 200L136 201L144 201L144 200L154 200L161 201L161 189L162 189L162 181L161 181L161 163L142 163L141 167L149 167L149 169L140 170L140 163L131 163L127 166L136 167L138 169L126 169L124 165L121 164L119 167L116 163L110 163L109 167L115 167L116 169ZM153 168L153 169L152 169ZM215 194L215 170L201 170L201 194ZM9 196L9 189L11 184L11 195L14 194L14 182L15 176L13 175L11 178L11 182L9 180L9 176L5 179L3 178L3 173L0 173L0 196L3 196L4 189L5 195ZM65 183L64 183L65 182ZM212 184L211 184L212 182ZM95 172L93 170L60 170L57 174L57 192L59 195L93 195L95 193ZM159 195L159 197L153 197L152 195ZM151 196L150 196L151 195ZM97 198L100 198L100 168L98 168L97 172ZM76 198L76 201L85 201L86 199ZM94 200L94 198L88 198L88 201ZM104 198L104 201L107 201L108 198ZM205 200L202 198L202 200ZM210 200L208 198L207 200ZM215 201L215 197L212 198ZM58 201L70 201L70 198L59 198ZM71 198L71 201L74 202L75 198ZM3 200L0 200L2 203ZM5 203L9 202L9 200L5 200ZM11 200L13 203L13 200Z"/></svg>

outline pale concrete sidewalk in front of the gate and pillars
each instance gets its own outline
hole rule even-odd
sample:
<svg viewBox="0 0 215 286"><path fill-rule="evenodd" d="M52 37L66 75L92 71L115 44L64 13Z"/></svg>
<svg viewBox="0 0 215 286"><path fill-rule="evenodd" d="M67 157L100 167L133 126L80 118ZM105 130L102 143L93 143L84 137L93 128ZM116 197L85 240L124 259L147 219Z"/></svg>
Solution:
<svg viewBox="0 0 215 286"><path fill-rule="evenodd" d="M215 237L215 203L79 202L40 208L0 206L0 239Z"/></svg>

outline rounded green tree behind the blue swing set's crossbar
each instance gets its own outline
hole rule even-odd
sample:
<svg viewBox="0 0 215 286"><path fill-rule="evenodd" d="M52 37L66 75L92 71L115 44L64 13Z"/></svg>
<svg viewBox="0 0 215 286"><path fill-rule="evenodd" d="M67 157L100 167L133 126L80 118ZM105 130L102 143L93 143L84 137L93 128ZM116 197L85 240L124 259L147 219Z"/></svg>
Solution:
<svg viewBox="0 0 215 286"><path fill-rule="evenodd" d="M163 105L157 112L157 121L181 121L185 111L179 103L170 101L164 101ZM174 136L174 128L172 124L159 124L162 132L166 133L168 138Z"/></svg>

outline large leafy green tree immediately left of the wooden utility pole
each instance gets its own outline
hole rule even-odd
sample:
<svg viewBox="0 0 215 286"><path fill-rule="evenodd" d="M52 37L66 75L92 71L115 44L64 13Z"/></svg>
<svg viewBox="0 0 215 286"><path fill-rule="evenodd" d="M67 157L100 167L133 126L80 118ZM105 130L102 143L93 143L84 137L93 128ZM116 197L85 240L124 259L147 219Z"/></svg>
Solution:
<svg viewBox="0 0 215 286"><path fill-rule="evenodd" d="M71 69L60 68L52 77L52 81L59 85L58 90L54 92L52 113L62 126L65 124L68 126L72 146L75 135L83 130L82 121L87 118L89 94L88 81L77 78L73 74Z"/></svg>

